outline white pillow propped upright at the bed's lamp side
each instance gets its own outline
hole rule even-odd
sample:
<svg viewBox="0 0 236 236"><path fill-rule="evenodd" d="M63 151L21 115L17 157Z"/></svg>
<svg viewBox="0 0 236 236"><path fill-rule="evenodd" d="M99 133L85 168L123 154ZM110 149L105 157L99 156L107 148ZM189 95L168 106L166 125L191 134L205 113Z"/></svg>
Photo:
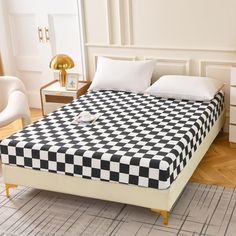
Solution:
<svg viewBox="0 0 236 236"><path fill-rule="evenodd" d="M144 92L150 86L155 61L121 61L98 57L89 90Z"/></svg>

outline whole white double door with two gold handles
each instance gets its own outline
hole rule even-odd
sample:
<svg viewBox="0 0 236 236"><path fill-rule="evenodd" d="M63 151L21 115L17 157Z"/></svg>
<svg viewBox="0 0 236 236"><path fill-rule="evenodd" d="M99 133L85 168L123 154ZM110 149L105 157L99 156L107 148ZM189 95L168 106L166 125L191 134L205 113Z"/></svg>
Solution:
<svg viewBox="0 0 236 236"><path fill-rule="evenodd" d="M30 106L41 107L40 87L54 79L49 62L55 54L70 55L73 71L83 73L77 0L6 2L17 76L27 88Z"/></svg>

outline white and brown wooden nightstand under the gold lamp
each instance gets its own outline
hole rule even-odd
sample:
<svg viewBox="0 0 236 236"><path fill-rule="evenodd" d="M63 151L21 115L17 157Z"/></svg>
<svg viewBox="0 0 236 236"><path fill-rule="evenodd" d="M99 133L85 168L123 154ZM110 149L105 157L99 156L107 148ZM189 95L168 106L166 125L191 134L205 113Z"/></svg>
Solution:
<svg viewBox="0 0 236 236"><path fill-rule="evenodd" d="M76 91L66 90L65 87L61 87L58 80L54 80L49 84L44 85L40 89L43 115L47 115L83 95L87 92L90 84L90 81L79 81L78 89Z"/></svg>

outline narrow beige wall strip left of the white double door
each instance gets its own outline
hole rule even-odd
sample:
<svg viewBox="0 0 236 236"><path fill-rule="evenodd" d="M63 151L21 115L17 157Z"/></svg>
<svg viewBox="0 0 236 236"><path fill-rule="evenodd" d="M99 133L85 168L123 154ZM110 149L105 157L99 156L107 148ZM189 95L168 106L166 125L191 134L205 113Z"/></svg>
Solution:
<svg viewBox="0 0 236 236"><path fill-rule="evenodd" d="M0 54L5 75L14 75L14 64L10 49L9 31L5 15L5 1L0 0Z"/></svg>

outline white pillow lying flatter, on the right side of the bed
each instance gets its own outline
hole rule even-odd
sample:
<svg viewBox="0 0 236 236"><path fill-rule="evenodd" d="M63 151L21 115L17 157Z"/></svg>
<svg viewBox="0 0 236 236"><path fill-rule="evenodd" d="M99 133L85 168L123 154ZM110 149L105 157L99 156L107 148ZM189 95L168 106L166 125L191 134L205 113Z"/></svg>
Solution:
<svg viewBox="0 0 236 236"><path fill-rule="evenodd" d="M223 82L208 77L166 75L145 93L163 98L209 101L223 86Z"/></svg>

